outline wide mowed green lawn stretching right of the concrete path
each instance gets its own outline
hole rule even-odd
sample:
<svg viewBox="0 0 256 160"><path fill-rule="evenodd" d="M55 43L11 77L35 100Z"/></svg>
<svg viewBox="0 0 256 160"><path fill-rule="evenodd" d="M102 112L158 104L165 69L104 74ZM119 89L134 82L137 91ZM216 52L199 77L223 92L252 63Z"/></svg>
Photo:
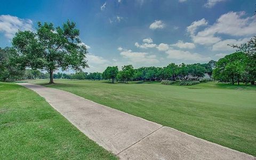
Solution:
<svg viewBox="0 0 256 160"><path fill-rule="evenodd" d="M49 80L36 80L43 84ZM77 94L196 137L256 156L256 87L215 82L193 86L55 80Z"/></svg>

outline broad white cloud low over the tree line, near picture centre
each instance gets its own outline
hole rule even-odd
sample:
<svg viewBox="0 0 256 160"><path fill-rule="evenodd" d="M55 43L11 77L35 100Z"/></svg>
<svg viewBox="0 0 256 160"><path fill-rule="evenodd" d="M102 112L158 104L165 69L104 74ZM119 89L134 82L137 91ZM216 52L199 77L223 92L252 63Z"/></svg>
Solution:
<svg viewBox="0 0 256 160"><path fill-rule="evenodd" d="M148 55L146 52L132 52L132 50L124 50L120 53L124 58L131 60L134 63L158 63L156 55Z"/></svg>

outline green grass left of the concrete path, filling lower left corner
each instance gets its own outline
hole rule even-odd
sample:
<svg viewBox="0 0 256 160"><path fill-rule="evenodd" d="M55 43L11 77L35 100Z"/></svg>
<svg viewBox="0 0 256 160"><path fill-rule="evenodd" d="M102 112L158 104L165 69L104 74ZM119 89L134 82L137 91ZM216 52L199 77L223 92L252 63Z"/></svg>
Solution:
<svg viewBox="0 0 256 160"><path fill-rule="evenodd" d="M0 83L0 159L117 159L33 91Z"/></svg>

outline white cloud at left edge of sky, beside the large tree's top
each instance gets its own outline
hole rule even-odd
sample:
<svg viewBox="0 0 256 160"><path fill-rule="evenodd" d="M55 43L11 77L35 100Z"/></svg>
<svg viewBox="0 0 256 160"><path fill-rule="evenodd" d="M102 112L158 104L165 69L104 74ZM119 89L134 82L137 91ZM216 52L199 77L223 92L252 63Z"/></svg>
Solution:
<svg viewBox="0 0 256 160"><path fill-rule="evenodd" d="M33 30L33 22L12 15L0 15L0 32L3 32L5 37L11 39L18 30Z"/></svg>

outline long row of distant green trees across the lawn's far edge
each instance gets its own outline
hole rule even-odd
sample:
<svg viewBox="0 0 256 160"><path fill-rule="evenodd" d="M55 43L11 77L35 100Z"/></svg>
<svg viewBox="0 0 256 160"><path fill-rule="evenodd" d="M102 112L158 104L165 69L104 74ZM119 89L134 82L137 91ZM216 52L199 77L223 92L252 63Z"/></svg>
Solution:
<svg viewBox="0 0 256 160"><path fill-rule="evenodd" d="M170 63L166 67L140 67L134 69L132 65L123 66L121 70L118 70L117 66L109 66L102 73L103 79L111 79L114 81L126 83L128 81L161 81L171 80L176 81L180 79L182 81L188 81L192 77L204 77L207 73L211 77L215 61L211 60L208 63L195 63L186 65L176 65Z"/></svg>

